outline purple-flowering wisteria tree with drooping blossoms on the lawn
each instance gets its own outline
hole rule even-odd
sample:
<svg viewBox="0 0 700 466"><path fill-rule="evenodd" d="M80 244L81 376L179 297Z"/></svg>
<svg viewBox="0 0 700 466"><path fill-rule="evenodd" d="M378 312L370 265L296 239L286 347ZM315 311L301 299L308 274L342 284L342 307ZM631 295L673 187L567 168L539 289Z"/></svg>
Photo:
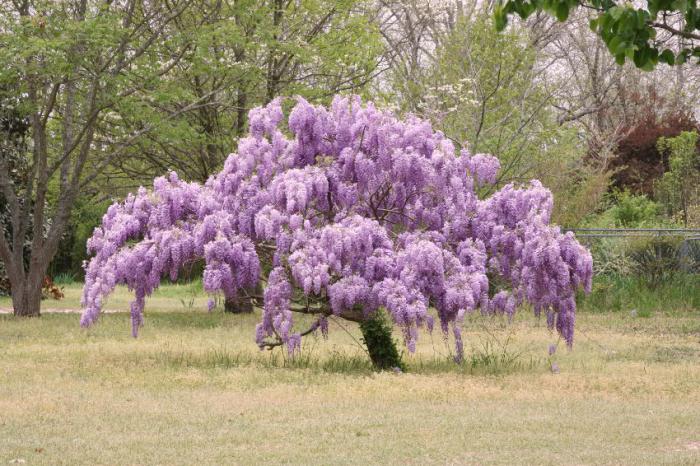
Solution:
<svg viewBox="0 0 700 466"><path fill-rule="evenodd" d="M330 108L299 99L288 130L283 120L279 100L252 110L250 134L204 185L173 172L109 208L88 242L83 326L126 284L136 336L162 277L203 259L208 293L262 308L261 348L293 354L335 316L362 324L375 366L398 365L370 343L390 336L368 338L377 327L367 323L384 310L410 352L437 317L459 361L465 314L512 316L524 302L573 343L574 297L590 288L591 256L549 225L552 196L538 181L479 199L479 187L495 182L496 158L458 154L428 122L358 97ZM298 328L294 313L313 323Z"/></svg>

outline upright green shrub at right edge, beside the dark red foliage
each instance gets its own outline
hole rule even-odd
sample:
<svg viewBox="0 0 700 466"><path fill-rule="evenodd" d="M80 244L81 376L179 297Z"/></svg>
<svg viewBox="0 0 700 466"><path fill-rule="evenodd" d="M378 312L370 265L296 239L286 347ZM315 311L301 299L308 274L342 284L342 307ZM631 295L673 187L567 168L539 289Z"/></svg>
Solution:
<svg viewBox="0 0 700 466"><path fill-rule="evenodd" d="M668 154L669 170L656 185L656 195L669 215L680 215L686 226L700 224L700 147L698 133L686 131L661 138L659 152Z"/></svg>

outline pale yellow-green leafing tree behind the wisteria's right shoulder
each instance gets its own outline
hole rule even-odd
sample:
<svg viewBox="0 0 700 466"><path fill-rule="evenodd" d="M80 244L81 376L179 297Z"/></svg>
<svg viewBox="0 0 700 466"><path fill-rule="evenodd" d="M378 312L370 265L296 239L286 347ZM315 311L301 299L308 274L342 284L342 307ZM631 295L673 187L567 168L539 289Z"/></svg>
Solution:
<svg viewBox="0 0 700 466"><path fill-rule="evenodd" d="M541 180L554 194L554 220L576 225L598 207L609 174L585 162L576 129L557 121L528 31L493 26L485 10L458 19L418 107L472 153L498 157L500 183Z"/></svg>

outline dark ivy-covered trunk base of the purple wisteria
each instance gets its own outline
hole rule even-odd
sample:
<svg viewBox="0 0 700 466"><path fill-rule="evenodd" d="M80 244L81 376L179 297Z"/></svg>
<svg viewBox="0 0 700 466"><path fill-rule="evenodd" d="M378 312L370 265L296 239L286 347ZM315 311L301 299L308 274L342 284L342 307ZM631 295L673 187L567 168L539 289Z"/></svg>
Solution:
<svg viewBox="0 0 700 466"><path fill-rule="evenodd" d="M392 337L392 326L383 312L376 312L371 318L360 323L362 341L367 347L372 365L377 370L405 370L401 355Z"/></svg>

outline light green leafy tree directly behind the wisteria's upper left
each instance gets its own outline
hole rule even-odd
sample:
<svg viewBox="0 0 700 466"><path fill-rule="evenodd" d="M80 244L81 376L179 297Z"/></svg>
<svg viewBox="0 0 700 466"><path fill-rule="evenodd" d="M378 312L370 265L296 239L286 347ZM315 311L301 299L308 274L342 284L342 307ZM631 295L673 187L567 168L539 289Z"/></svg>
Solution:
<svg viewBox="0 0 700 466"><path fill-rule="evenodd" d="M361 93L384 66L372 15L357 0L195 2L166 31L192 40L165 87L144 89L140 106L119 115L119 131L156 125L110 167L119 193L168 170L206 181L235 149L248 111L277 96Z"/></svg>

